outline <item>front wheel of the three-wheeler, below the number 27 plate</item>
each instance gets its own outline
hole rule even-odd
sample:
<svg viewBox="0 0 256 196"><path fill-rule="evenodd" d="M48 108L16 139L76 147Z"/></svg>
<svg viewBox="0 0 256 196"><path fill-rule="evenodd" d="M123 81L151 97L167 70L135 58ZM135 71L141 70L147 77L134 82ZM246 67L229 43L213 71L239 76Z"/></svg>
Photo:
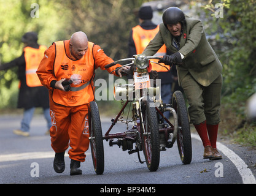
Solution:
<svg viewBox="0 0 256 196"><path fill-rule="evenodd" d="M158 120L153 102L149 100L142 101L141 130L142 148L147 167L150 171L157 171L160 162Z"/></svg>

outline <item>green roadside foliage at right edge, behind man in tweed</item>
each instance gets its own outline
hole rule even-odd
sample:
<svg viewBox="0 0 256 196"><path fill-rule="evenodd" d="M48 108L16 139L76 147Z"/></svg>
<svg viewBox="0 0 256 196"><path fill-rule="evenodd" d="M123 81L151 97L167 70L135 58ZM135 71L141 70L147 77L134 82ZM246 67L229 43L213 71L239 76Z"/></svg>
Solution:
<svg viewBox="0 0 256 196"><path fill-rule="evenodd" d="M211 14L211 23L218 31L222 40L220 61L223 64L223 96L228 96L228 103L246 102L256 91L256 1L255 0L223 0L223 18ZM211 1L204 6L206 10L214 11L214 5L219 1ZM212 30L212 29L211 29ZM228 45L228 47L227 47ZM218 52L217 52L218 53ZM244 115L242 108L236 112Z"/></svg>

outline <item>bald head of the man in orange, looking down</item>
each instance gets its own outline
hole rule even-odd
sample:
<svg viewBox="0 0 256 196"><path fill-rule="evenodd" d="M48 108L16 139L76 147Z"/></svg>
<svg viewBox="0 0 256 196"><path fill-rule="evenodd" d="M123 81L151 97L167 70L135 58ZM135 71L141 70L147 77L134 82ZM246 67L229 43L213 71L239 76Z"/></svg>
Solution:
<svg viewBox="0 0 256 196"><path fill-rule="evenodd" d="M78 31L72 34L70 38L69 49L71 55L74 56L74 58L81 59L88 49L87 35L82 31Z"/></svg>

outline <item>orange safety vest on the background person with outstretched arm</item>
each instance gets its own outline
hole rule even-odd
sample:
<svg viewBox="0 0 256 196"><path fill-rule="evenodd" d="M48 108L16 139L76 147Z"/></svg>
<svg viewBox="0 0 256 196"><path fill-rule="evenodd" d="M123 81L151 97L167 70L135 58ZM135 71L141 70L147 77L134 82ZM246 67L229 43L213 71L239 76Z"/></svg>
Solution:
<svg viewBox="0 0 256 196"><path fill-rule="evenodd" d="M26 61L26 85L29 87L42 86L41 81L39 80L36 70L44 57L44 51L47 50L47 47L44 45L39 46L39 48L24 48L24 56Z"/></svg>

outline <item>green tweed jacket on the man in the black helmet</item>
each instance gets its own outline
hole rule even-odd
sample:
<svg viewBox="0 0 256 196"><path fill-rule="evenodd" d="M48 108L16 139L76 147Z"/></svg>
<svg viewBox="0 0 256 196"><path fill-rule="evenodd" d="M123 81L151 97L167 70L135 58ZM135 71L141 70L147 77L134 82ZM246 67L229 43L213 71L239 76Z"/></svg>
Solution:
<svg viewBox="0 0 256 196"><path fill-rule="evenodd" d="M206 34L200 20L186 18L184 30L180 36L180 49L173 45L174 37L166 26L161 23L157 35L143 51L146 56L153 56L165 43L173 53L179 51L184 55L182 65L177 66L180 81L190 73L203 86L209 86L222 73L222 64L206 39Z"/></svg>

